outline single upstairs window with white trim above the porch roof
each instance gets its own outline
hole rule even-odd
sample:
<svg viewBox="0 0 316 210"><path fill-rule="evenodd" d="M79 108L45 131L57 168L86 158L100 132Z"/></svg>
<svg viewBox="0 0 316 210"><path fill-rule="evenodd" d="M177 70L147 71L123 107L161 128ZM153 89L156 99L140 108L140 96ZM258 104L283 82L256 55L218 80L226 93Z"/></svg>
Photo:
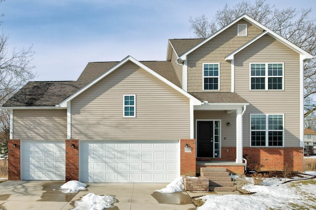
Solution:
<svg viewBox="0 0 316 210"><path fill-rule="evenodd" d="M219 90L219 63L203 63L203 90Z"/></svg>

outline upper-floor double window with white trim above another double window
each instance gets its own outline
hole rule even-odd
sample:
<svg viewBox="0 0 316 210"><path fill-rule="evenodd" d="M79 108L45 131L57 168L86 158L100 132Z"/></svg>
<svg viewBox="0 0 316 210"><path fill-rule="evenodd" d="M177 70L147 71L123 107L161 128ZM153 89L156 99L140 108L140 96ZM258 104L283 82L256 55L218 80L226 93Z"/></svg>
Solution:
<svg viewBox="0 0 316 210"><path fill-rule="evenodd" d="M250 63L250 90L283 90L283 63Z"/></svg>

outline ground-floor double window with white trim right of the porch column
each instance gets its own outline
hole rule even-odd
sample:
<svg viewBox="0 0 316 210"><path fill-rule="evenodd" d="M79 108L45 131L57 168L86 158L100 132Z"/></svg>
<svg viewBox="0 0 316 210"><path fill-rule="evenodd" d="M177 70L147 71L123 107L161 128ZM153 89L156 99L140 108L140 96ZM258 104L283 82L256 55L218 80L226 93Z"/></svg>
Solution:
<svg viewBox="0 0 316 210"><path fill-rule="evenodd" d="M283 147L284 116L250 114L252 147Z"/></svg>

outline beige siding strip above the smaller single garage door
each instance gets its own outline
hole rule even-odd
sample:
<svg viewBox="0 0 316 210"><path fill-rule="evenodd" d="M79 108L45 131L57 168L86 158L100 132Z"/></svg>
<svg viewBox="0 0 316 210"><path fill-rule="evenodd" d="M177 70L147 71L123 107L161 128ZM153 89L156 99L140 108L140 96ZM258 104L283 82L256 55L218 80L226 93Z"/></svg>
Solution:
<svg viewBox="0 0 316 210"><path fill-rule="evenodd" d="M67 139L67 110L13 110L13 139Z"/></svg>

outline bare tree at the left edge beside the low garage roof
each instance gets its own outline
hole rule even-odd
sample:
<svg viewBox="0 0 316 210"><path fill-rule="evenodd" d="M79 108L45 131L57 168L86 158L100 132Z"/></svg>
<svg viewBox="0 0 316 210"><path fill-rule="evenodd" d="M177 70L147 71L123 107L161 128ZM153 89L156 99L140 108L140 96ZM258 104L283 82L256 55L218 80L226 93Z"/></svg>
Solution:
<svg viewBox="0 0 316 210"><path fill-rule="evenodd" d="M0 3L3 1L0 0ZM3 16L3 14L0 16ZM35 78L36 74L33 72L35 66L31 63L33 55L32 46L19 50L13 47L9 51L8 36L4 33L0 34L0 106L29 80ZM7 149L9 130L9 112L1 109L0 149L1 146L2 149Z"/></svg>

